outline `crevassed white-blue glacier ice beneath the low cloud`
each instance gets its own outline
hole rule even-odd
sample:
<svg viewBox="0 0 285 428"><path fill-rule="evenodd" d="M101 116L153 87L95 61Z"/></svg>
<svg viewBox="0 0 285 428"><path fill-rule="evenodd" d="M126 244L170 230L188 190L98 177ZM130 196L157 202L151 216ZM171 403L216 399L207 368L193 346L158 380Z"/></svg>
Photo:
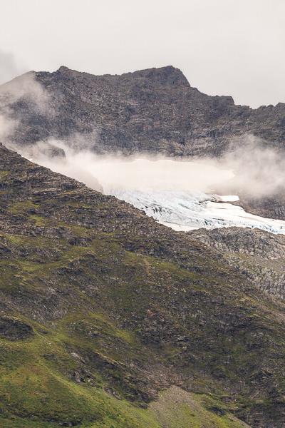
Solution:
<svg viewBox="0 0 285 428"><path fill-rule="evenodd" d="M124 200L174 230L214 229L237 226L259 228L285 235L285 221L247 213L231 202L237 195L216 195L179 190L145 191L112 188L108 194Z"/></svg>

